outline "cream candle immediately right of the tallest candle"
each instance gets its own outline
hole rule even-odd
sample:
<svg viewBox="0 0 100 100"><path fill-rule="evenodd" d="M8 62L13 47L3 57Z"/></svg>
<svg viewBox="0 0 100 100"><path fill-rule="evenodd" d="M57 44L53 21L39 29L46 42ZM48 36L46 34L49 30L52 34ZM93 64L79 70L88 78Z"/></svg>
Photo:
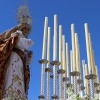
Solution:
<svg viewBox="0 0 100 100"><path fill-rule="evenodd" d="M59 61L62 62L62 25L59 25ZM62 69L62 64L59 69Z"/></svg>

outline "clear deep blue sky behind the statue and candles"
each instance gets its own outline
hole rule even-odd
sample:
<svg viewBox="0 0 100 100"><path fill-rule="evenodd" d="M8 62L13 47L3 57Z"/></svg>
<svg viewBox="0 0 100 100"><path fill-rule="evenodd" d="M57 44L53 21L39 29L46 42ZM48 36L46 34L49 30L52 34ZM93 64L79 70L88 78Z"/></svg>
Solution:
<svg viewBox="0 0 100 100"><path fill-rule="evenodd" d="M30 65L31 80L28 98L38 100L38 95L40 95L41 65L38 63L38 60L42 58L45 17L48 17L48 26L51 27L51 61L53 60L53 18L57 14L58 25L62 25L63 27L63 34L65 35L66 42L69 44L69 51L72 48L71 24L75 24L75 32L78 33L81 60L85 60L86 63L84 23L88 23L95 63L98 66L98 71L100 70L100 0L28 0L28 3L33 18L32 31L29 38L34 41L34 45L30 49L33 51L33 60ZM17 6L18 0L0 0L0 33L17 25Z"/></svg>

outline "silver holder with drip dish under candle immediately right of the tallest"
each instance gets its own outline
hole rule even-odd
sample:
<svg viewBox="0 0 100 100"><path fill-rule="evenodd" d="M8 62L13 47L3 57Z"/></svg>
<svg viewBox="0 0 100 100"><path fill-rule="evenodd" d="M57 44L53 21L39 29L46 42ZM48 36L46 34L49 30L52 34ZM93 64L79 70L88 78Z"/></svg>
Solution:
<svg viewBox="0 0 100 100"><path fill-rule="evenodd" d="M63 69L57 70L57 73L59 74L59 99L62 99L62 82L63 82L63 74L66 71Z"/></svg>

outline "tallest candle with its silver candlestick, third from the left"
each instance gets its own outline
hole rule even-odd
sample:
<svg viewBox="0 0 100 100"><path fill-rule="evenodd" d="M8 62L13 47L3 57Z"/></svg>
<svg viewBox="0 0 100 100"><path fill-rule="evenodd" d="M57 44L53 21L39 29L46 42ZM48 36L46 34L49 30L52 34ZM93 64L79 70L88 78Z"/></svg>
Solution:
<svg viewBox="0 0 100 100"><path fill-rule="evenodd" d="M57 66L60 65L60 62L57 61L57 15L54 15L54 46L53 46L53 96L52 99L58 99L57 95Z"/></svg>

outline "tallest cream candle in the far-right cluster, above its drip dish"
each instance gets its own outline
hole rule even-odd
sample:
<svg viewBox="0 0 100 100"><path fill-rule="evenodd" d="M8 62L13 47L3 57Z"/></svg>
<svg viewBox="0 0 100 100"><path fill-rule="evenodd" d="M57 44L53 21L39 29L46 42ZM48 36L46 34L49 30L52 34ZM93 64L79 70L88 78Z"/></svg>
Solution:
<svg viewBox="0 0 100 100"><path fill-rule="evenodd" d="M92 67L91 67L90 50L89 50L88 24L85 23L84 26L85 26L85 39L86 39L88 69L89 69L89 74L91 74Z"/></svg>

